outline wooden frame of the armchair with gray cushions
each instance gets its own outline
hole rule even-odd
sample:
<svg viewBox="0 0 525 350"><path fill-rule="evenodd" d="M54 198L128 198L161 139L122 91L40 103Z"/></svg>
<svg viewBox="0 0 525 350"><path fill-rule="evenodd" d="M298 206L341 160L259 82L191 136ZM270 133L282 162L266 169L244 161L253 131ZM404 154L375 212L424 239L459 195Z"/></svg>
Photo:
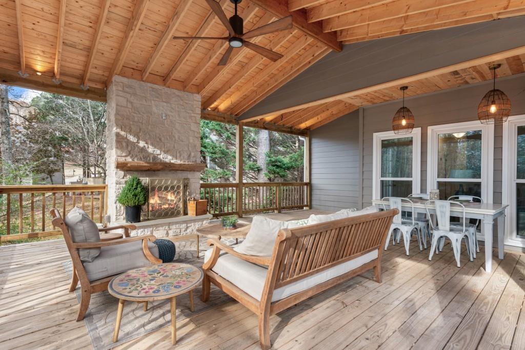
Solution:
<svg viewBox="0 0 525 350"><path fill-rule="evenodd" d="M80 256L78 252L79 249L111 247L111 246L123 245L125 243L130 243L130 242L142 241L142 252L144 253L144 257L147 259L147 261L149 261L149 263L152 263L152 264L162 263L162 260L159 258L156 258L148 247L148 242L154 242L156 239L155 236L147 235L147 236L130 237L129 235L130 230L133 230L136 228L134 225L120 225L120 226L113 226L113 227L99 229L99 231L103 231L103 232L123 229L124 238L121 238L121 239L116 239L112 241L104 241L104 242L77 242L75 243L71 237L71 234L69 233L66 223L60 217L59 211L54 208L50 210L50 213L51 213L51 217L53 217L53 225L56 227L59 227L62 230L62 235L64 235L64 240L66 241L66 245L69 250L69 254L71 255L71 261L73 263L72 279L71 279L71 285L69 287L69 292L75 291L79 281L80 281L80 287L82 288L82 295L80 298L80 310L78 311L77 321L81 321L84 319L84 316L86 315L86 311L88 310L89 301L91 299L91 294L107 290L109 281L111 281L111 279L115 277L116 275L120 274L121 272L124 272L124 271L121 271L119 273L111 274L103 278L99 278L96 280L90 280L88 278L88 273L86 272L86 269L84 267L84 263L80 260Z"/></svg>

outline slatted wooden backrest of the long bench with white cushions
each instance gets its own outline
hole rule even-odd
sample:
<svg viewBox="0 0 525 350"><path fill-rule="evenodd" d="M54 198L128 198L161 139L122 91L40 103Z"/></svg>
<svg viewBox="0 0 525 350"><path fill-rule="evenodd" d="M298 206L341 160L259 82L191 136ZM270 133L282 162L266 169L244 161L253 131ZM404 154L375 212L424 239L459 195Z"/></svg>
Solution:
<svg viewBox="0 0 525 350"><path fill-rule="evenodd" d="M384 241L397 210L355 216L290 229L279 261L276 261L275 288L329 269L378 249Z"/></svg>

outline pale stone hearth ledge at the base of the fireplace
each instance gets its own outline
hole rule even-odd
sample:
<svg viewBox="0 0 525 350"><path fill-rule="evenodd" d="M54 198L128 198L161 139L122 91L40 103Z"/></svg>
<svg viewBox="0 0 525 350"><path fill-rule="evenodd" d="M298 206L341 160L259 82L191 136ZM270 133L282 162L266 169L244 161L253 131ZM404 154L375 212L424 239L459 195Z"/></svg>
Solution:
<svg viewBox="0 0 525 350"><path fill-rule="evenodd" d="M207 225L213 216L211 214L199 216L178 216L175 218L162 218L135 222L136 230L130 232L131 236L154 235L157 238L175 237L195 234L196 230ZM125 222L112 222L111 225L122 225Z"/></svg>

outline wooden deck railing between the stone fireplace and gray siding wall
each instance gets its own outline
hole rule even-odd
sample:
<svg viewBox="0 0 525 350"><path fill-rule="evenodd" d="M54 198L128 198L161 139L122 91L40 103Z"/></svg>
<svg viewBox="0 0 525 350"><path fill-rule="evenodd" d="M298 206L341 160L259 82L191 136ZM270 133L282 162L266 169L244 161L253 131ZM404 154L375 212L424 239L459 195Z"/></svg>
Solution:
<svg viewBox="0 0 525 350"><path fill-rule="evenodd" d="M242 193L239 194L239 187ZM201 198L208 200L213 216L264 213L310 206L308 182L254 182L201 184ZM239 207L240 204L240 207Z"/></svg>

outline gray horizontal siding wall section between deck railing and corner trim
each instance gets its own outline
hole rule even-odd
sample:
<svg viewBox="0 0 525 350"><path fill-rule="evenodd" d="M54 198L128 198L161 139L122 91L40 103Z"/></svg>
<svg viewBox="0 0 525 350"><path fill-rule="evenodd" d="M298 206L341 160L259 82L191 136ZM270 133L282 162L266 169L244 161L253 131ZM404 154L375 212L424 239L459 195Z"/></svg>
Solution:
<svg viewBox="0 0 525 350"><path fill-rule="evenodd" d="M337 211L358 207L358 111L310 133L312 208Z"/></svg>

